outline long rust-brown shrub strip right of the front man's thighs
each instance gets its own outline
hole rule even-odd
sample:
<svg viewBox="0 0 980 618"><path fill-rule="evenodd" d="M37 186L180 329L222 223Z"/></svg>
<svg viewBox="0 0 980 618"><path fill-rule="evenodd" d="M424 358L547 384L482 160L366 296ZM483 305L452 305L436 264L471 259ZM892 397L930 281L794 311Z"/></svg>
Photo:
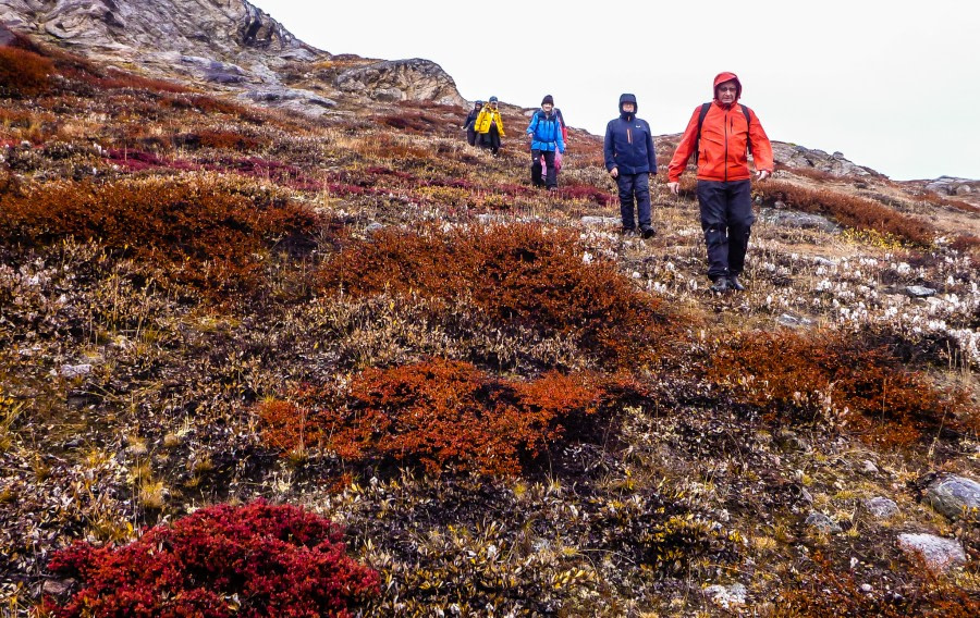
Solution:
<svg viewBox="0 0 980 618"><path fill-rule="evenodd" d="M809 189L783 181L759 183L754 188L769 203L781 200L804 212L833 217L849 227L894 234L916 245L929 246L935 235L928 223L870 199Z"/></svg>

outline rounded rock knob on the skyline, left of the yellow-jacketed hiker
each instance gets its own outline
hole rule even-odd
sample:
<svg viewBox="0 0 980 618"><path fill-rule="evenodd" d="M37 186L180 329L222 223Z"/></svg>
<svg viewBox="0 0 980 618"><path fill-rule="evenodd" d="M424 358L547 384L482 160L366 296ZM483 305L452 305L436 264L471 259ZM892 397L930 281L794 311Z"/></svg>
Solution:
<svg viewBox="0 0 980 618"><path fill-rule="evenodd" d="M465 106L456 83L429 60L389 60L344 71L333 85L340 90L380 101L434 101Z"/></svg>

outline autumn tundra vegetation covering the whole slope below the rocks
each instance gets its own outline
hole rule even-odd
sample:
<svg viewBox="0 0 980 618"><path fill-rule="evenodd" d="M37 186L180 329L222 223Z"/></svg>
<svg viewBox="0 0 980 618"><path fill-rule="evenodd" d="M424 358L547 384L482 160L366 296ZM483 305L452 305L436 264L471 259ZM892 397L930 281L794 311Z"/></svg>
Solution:
<svg viewBox="0 0 980 618"><path fill-rule="evenodd" d="M0 97L3 615L980 614L976 514L921 494L978 477L973 201L782 168L718 297L693 182L621 237L578 131L544 195L451 107L23 39Z"/></svg>

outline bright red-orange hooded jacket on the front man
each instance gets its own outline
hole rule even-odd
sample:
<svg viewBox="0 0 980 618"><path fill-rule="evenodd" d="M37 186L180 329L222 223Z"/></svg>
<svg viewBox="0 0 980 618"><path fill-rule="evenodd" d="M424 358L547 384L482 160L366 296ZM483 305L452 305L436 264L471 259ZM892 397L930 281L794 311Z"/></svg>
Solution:
<svg viewBox="0 0 980 618"><path fill-rule="evenodd" d="M738 76L734 73L719 73L714 78L712 91L716 91L719 84L732 79L735 81L736 87L735 102L726 107L715 97L701 124L701 143L697 154L699 181L746 181L751 177L747 153L749 143L752 145L756 170L772 173L772 144L762 131L762 124L751 110L749 110L750 122L746 124L745 114L738 107L738 99L742 98L742 83ZM701 106L698 106L671 159L667 182L679 182L681 174L687 168L687 160L694 153L695 143L698 139L700 114Z"/></svg>

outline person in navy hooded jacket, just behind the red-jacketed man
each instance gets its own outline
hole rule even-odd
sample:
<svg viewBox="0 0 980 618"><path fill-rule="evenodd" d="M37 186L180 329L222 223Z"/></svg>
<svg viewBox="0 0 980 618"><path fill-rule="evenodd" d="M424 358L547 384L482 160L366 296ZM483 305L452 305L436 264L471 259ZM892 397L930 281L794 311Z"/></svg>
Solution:
<svg viewBox="0 0 980 618"><path fill-rule="evenodd" d="M636 97L620 96L620 118L605 125L605 169L620 188L623 233L636 231L633 202L644 238L657 232L650 221L650 174L657 174L657 151L647 121L636 118Z"/></svg>

